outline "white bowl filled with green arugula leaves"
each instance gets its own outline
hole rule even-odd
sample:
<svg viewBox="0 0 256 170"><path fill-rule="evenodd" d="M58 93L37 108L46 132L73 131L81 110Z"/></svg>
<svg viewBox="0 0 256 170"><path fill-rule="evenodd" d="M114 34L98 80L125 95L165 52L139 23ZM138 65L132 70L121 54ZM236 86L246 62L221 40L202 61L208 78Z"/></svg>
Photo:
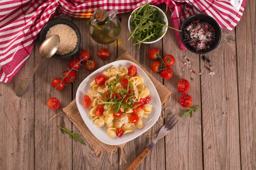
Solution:
<svg viewBox="0 0 256 170"><path fill-rule="evenodd" d="M168 28L168 19L164 11L149 3L132 11L128 20L129 38L134 45L151 44L161 40ZM138 47L138 48L139 48Z"/></svg>

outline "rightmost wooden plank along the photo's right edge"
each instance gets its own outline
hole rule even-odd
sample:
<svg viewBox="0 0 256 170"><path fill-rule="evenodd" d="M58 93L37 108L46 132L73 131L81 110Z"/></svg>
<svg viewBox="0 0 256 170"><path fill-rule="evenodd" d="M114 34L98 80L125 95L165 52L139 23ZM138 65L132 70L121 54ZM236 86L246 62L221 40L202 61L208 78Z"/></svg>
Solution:
<svg viewBox="0 0 256 170"><path fill-rule="evenodd" d="M242 169L256 169L256 3L247 1L236 27Z"/></svg>

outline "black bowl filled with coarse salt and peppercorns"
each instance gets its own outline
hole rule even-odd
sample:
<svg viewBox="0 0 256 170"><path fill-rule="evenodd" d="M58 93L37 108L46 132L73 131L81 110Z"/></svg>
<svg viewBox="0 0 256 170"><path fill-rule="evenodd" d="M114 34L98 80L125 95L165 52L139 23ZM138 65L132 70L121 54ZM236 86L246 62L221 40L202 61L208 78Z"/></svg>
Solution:
<svg viewBox="0 0 256 170"><path fill-rule="evenodd" d="M181 26L183 45L196 54L206 54L218 47L221 30L217 21L205 14L190 16Z"/></svg>

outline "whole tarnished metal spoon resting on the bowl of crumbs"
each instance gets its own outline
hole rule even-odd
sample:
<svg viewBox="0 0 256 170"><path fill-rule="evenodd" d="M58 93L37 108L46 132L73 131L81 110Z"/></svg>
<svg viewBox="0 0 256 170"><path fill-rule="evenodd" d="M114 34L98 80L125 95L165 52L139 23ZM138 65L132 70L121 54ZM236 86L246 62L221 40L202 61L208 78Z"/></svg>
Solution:
<svg viewBox="0 0 256 170"><path fill-rule="evenodd" d="M22 83L18 86L18 88L16 89L16 96L20 97L24 94L39 64L42 62L43 59L52 57L58 50L59 45L59 35L51 35L49 38L43 41L43 43L39 47L39 54L41 55L40 60L36 64L35 68L33 68L32 72L28 75L28 77L24 79Z"/></svg>

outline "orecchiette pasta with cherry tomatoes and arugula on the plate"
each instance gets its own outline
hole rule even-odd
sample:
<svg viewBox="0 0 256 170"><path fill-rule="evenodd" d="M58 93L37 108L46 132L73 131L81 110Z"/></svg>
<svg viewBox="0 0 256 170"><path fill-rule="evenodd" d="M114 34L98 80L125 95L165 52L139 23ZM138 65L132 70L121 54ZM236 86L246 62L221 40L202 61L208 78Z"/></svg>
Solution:
<svg viewBox="0 0 256 170"><path fill-rule="evenodd" d="M94 124L97 127L105 125L111 138L132 132L131 125L144 128L143 119L148 118L153 108L148 103L150 91L144 86L144 78L139 74L129 77L129 68L123 66L111 67L102 74L107 79L102 84L98 84L97 79L93 80L91 90L87 92L91 100L89 117ZM149 100L144 99L147 96Z"/></svg>

